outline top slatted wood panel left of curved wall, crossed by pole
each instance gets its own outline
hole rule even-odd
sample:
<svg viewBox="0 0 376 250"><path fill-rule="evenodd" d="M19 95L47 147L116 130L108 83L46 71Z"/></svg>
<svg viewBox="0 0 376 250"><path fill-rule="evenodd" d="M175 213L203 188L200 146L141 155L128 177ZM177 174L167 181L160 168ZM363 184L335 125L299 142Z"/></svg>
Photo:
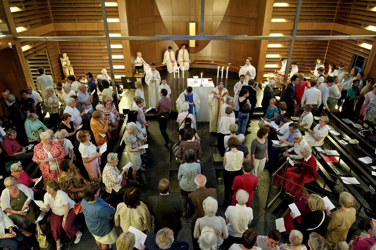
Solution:
<svg viewBox="0 0 376 250"><path fill-rule="evenodd" d="M99 0L49 0L54 23L103 22ZM107 18L119 18L118 7L106 7Z"/></svg>

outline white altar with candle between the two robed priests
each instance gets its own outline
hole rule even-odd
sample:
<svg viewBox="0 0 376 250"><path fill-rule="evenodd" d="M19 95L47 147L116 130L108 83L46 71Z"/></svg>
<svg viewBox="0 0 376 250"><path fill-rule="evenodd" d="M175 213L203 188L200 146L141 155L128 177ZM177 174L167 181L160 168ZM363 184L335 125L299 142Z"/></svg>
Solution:
<svg viewBox="0 0 376 250"><path fill-rule="evenodd" d="M214 83L209 82L209 78L202 79L202 86L200 86L201 78L187 78L187 87L191 86L193 91L200 97L199 120L210 121L208 95L214 89Z"/></svg>

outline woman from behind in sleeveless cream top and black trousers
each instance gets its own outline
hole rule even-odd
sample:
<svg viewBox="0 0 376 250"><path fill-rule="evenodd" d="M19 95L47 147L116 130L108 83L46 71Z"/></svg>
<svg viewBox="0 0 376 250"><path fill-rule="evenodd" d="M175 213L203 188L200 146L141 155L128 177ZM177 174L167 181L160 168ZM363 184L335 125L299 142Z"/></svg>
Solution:
<svg viewBox="0 0 376 250"><path fill-rule="evenodd" d="M231 187L236 176L241 175L241 165L244 161L244 153L237 150L239 141L235 137L229 138L228 147L231 149L224 154L223 158L223 182L224 182L224 202L230 205L232 201Z"/></svg>

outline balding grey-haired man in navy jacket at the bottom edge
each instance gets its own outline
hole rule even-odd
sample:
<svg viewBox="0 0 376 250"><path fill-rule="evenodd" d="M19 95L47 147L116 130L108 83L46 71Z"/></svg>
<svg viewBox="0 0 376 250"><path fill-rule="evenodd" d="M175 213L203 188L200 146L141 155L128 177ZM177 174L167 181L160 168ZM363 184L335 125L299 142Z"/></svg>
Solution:
<svg viewBox="0 0 376 250"><path fill-rule="evenodd" d="M149 247L149 250L188 250L189 244L185 241L174 241L174 232L168 227L160 229L155 237L156 244Z"/></svg>

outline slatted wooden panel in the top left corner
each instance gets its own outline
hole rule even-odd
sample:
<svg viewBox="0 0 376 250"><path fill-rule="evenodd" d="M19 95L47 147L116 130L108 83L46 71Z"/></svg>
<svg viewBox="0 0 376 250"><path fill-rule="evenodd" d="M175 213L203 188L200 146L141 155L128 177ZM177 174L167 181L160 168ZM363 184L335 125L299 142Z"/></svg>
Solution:
<svg viewBox="0 0 376 250"><path fill-rule="evenodd" d="M9 6L18 7L20 11L12 12L16 28L23 30L52 23L48 0L8 0Z"/></svg>

